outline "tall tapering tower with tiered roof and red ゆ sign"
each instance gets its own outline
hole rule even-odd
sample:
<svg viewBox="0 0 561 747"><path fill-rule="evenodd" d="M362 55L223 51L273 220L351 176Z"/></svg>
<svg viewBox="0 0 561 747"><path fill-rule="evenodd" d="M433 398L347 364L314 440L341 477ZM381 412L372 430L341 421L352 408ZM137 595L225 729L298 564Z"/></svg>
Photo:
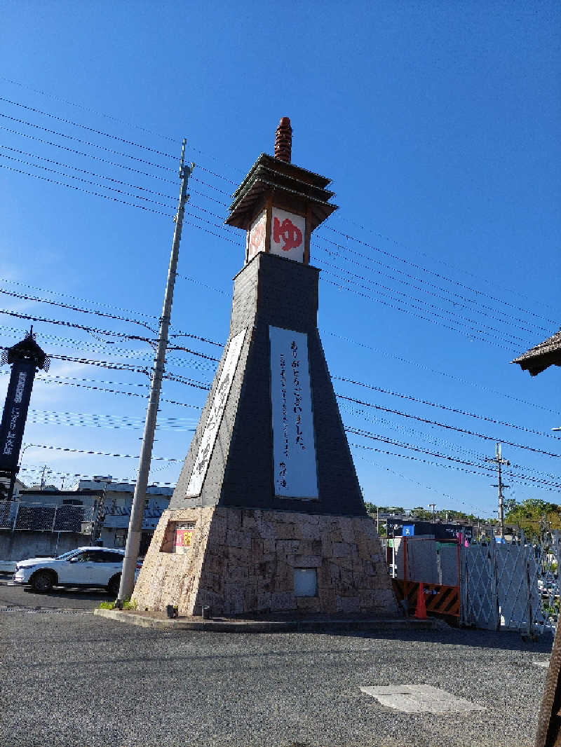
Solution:
<svg viewBox="0 0 561 747"><path fill-rule="evenodd" d="M310 235L330 180L291 163L283 117L233 194L245 231L230 335L133 599L180 615L396 616L317 329Z"/></svg>

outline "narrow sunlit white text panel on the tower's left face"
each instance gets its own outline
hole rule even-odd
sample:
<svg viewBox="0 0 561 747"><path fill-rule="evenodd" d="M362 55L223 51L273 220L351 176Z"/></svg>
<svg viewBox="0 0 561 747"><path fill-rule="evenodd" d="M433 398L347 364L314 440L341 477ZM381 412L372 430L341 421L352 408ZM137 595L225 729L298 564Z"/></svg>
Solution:
<svg viewBox="0 0 561 747"><path fill-rule="evenodd" d="M238 332L238 334L230 340L230 344L228 345L226 360L222 367L220 379L218 379L218 386L214 393L209 416L206 418L203 438L200 439L197 459L194 460L191 479L187 486L186 495L188 498L200 495L200 490L203 487L203 480L206 477L206 470L209 468L212 449L214 448L216 436L218 436L218 427L221 424L222 415L224 415L224 408L226 407L230 389L232 388L234 373L236 373L239 361L239 354L242 352L245 332L246 329L242 329L242 332Z"/></svg>

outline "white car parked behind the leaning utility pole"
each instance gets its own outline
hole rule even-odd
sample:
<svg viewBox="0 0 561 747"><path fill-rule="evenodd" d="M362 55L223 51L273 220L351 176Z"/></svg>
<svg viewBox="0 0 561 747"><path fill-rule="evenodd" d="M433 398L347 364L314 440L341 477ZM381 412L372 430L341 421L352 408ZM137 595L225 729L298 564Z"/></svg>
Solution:
<svg viewBox="0 0 561 747"><path fill-rule="evenodd" d="M107 589L117 596L125 551L114 548L76 548L55 558L19 560L14 583L29 584L35 592L50 592L53 586ZM141 568L137 561L135 580Z"/></svg>

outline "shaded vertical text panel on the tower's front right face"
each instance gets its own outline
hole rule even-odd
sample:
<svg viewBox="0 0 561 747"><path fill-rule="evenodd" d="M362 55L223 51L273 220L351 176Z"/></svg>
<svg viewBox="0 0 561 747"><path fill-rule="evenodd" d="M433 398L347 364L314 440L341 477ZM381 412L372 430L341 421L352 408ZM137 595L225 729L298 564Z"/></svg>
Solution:
<svg viewBox="0 0 561 747"><path fill-rule="evenodd" d="M278 498L318 498L307 335L269 326L273 469Z"/></svg>

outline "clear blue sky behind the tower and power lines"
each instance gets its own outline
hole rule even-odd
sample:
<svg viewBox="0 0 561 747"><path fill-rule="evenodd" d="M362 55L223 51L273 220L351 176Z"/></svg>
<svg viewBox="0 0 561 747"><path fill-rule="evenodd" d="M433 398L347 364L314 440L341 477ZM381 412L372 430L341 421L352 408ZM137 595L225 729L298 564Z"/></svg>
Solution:
<svg viewBox="0 0 561 747"><path fill-rule="evenodd" d="M346 424L375 436L349 436L365 498L490 516L496 480L481 468L498 438L518 444L503 446L518 465L507 497L557 502L544 481L561 483L559 458L536 450L561 453L551 433L561 426L560 370L530 379L509 361L561 323L560 19L548 1L4 2L0 290L158 317L187 137L197 167L173 321L223 342L244 245L242 232L221 227L223 203L289 116L293 162L333 179L340 206L312 249L332 375L438 405L335 381L346 397L403 413L342 400ZM146 332L0 296L0 309L19 314ZM0 325L10 345L28 321L0 314ZM50 323L34 330L48 353L150 365L147 344ZM168 362L203 383L214 367L189 353ZM144 394L146 376L58 359L49 376L34 388L25 443L138 454L142 397L85 386ZM162 403L155 454L181 460L205 393L166 382L163 396L189 406ZM63 474L134 477L137 467L28 447L22 477L33 483L45 464L59 486ZM179 469L153 462L151 479L174 482Z"/></svg>

